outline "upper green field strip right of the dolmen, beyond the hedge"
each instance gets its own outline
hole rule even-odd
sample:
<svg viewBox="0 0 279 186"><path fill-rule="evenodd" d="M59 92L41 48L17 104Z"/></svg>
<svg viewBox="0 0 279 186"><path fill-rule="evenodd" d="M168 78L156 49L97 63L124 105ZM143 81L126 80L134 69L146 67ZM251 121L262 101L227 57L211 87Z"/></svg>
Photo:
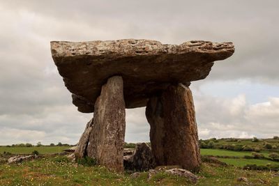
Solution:
<svg viewBox="0 0 279 186"><path fill-rule="evenodd" d="M211 148L202 148L202 155L227 155L227 156L237 156L244 157L244 155L252 155L252 152L244 152L244 151L232 151L232 150L222 150L222 149L211 149ZM260 153L265 157L269 157L269 153Z"/></svg>

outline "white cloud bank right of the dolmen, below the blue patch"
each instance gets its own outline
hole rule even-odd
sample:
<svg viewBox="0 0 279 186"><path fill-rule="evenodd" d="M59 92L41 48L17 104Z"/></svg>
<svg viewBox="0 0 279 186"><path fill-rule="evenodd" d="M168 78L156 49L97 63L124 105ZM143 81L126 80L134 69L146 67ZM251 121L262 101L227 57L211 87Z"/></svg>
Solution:
<svg viewBox="0 0 279 186"><path fill-rule="evenodd" d="M263 138L278 135L278 100L269 98L268 102L248 104L243 94L228 99L199 93L195 98L197 123L201 131L199 137Z"/></svg>

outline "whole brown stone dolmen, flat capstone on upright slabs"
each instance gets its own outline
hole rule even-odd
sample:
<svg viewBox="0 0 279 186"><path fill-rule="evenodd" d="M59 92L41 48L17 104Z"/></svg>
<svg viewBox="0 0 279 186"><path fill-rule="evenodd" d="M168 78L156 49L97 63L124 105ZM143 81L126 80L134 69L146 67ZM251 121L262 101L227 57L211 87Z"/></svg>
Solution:
<svg viewBox="0 0 279 186"><path fill-rule="evenodd" d="M232 42L53 41L51 51L73 104L78 111L94 112L77 147L78 157L89 155L122 171L125 108L147 105L156 163L198 169L197 123L188 86L209 75L214 61L232 56Z"/></svg>

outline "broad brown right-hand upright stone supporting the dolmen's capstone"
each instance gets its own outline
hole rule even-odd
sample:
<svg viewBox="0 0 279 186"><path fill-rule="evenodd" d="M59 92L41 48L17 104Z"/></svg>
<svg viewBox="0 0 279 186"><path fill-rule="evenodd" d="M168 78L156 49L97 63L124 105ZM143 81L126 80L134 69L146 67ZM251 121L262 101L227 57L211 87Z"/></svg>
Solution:
<svg viewBox="0 0 279 186"><path fill-rule="evenodd" d="M196 171L201 164L192 93L183 84L172 85L149 100L146 118L156 165L181 165Z"/></svg>

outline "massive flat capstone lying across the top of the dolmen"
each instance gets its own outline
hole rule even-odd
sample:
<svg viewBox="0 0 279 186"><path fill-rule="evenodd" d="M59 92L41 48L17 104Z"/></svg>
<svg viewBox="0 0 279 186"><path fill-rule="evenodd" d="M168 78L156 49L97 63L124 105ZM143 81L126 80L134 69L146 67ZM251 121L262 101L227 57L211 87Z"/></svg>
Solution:
<svg viewBox="0 0 279 186"><path fill-rule="evenodd" d="M213 61L234 53L232 42L189 41L163 45L156 40L51 42L52 58L73 104L93 112L101 87L121 75L126 108L144 107L149 97L169 84L204 79Z"/></svg>

